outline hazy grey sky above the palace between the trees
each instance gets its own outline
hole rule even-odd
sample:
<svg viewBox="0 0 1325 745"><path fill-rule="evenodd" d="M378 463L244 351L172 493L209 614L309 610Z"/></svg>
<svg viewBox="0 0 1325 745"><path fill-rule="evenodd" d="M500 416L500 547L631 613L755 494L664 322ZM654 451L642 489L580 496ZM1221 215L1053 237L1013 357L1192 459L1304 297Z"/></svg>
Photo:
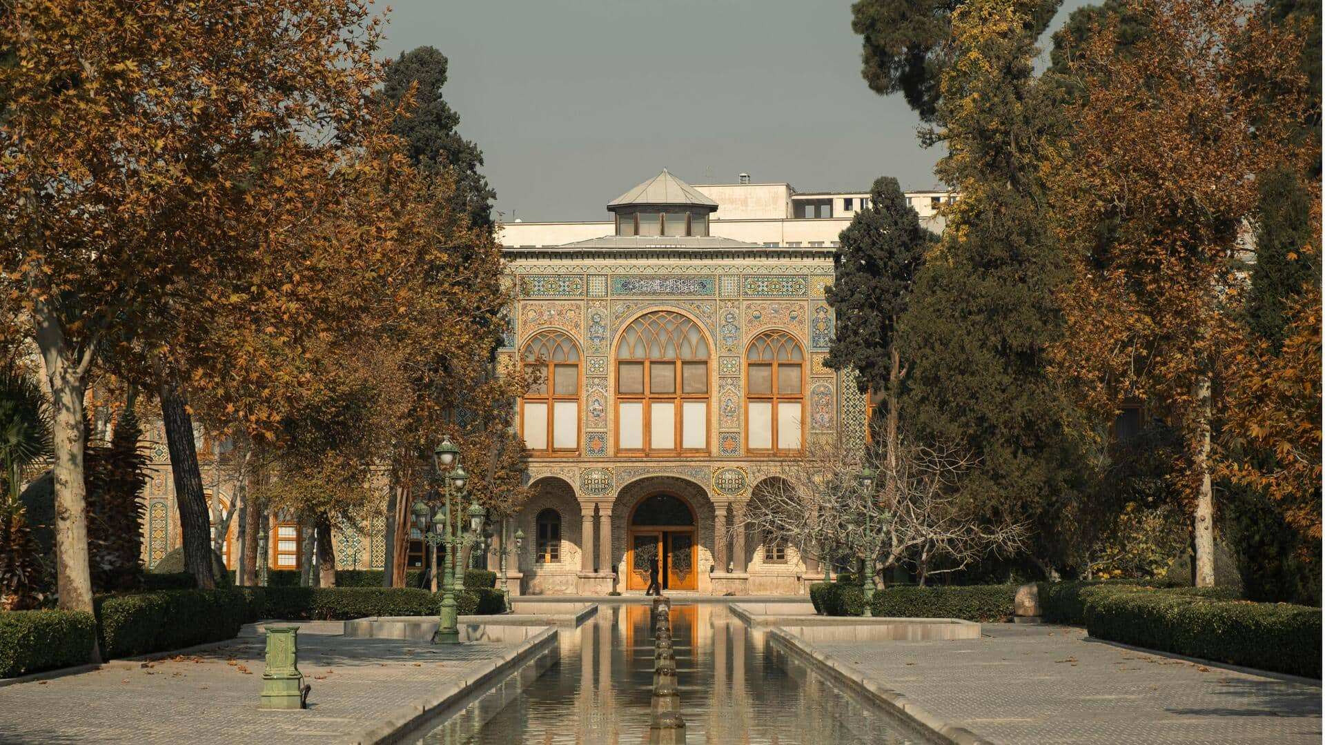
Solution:
<svg viewBox="0 0 1325 745"><path fill-rule="evenodd" d="M379 1L379 9L387 5ZM1067 0L1055 19L1086 0ZM383 52L431 44L504 219L603 220L662 167L690 183L935 186L901 95L860 77L851 3L395 0ZM1043 40L1045 44L1048 38Z"/></svg>

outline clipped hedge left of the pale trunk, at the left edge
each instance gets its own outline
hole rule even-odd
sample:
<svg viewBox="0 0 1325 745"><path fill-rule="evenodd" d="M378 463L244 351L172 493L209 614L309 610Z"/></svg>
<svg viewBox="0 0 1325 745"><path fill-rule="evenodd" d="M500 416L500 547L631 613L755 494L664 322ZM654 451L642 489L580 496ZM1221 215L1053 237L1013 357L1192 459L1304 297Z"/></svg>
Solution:
<svg viewBox="0 0 1325 745"><path fill-rule="evenodd" d="M85 664L95 643L90 612L0 612L0 677Z"/></svg>

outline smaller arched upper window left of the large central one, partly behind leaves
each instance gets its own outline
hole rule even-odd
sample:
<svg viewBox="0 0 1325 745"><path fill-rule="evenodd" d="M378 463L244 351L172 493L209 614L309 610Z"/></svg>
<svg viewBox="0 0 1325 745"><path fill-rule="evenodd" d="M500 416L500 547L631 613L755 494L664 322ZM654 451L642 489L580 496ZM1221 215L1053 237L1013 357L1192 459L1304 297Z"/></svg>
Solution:
<svg viewBox="0 0 1325 745"><path fill-rule="evenodd" d="M579 347L562 331L525 345L525 372L538 383L521 400L521 436L539 453L579 451Z"/></svg>

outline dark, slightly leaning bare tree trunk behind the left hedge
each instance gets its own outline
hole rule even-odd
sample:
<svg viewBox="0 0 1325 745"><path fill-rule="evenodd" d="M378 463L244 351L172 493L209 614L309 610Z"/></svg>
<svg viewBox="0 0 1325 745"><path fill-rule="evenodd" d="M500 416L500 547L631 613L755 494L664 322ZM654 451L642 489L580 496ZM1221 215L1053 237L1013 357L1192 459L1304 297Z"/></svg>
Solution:
<svg viewBox="0 0 1325 745"><path fill-rule="evenodd" d="M184 547L184 570L197 579L197 586L216 587L212 577L212 541L208 525L207 494L203 473L197 468L197 445L193 443L193 418L188 414L184 394L168 376L162 376L162 419L166 445L175 477L175 501L179 505L179 529Z"/></svg>

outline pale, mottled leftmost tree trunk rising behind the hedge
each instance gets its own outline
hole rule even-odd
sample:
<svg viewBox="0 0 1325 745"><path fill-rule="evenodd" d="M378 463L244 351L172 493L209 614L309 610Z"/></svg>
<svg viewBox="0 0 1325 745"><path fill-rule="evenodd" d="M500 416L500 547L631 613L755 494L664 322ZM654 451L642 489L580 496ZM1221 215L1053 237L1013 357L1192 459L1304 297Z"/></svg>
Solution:
<svg viewBox="0 0 1325 745"><path fill-rule="evenodd" d="M91 612L91 570L87 563L87 485L83 481L83 375L69 362L69 349L54 313L45 304L33 309L37 346L46 371L52 403L50 475L54 481L56 590L64 610ZM93 650L93 661L101 661Z"/></svg>

